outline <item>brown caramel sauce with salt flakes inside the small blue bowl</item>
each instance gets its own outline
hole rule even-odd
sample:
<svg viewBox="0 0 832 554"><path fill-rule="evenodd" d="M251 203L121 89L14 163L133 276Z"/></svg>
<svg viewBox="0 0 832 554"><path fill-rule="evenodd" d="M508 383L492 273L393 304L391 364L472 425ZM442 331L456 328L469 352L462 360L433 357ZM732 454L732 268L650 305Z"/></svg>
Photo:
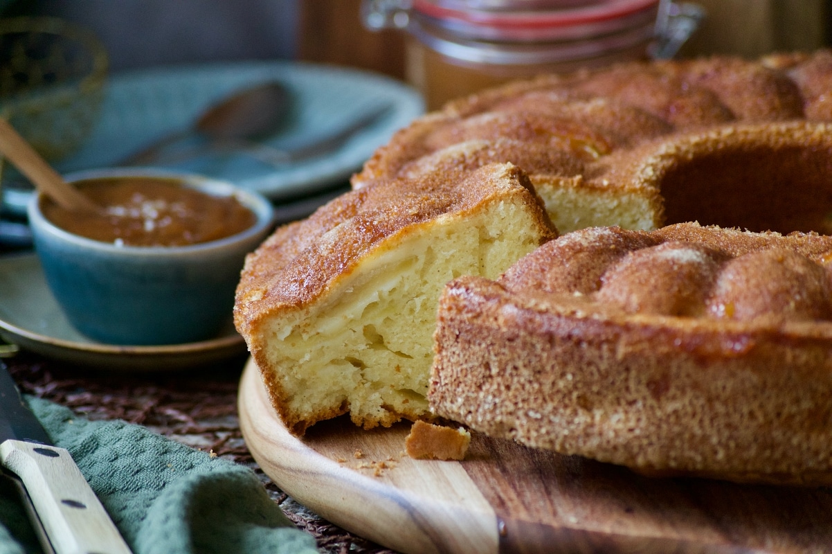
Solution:
<svg viewBox="0 0 832 554"><path fill-rule="evenodd" d="M74 235L119 246L196 245L236 235L256 220L235 197L212 196L176 179L107 177L75 185L102 210L79 213L44 199L43 215Z"/></svg>

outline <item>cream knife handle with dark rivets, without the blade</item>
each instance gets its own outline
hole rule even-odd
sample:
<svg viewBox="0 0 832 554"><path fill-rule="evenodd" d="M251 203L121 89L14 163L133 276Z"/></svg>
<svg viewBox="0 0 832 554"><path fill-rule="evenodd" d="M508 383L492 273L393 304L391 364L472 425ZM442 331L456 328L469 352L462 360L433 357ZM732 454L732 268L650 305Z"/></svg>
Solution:
<svg viewBox="0 0 832 554"><path fill-rule="evenodd" d="M0 463L26 486L57 554L130 554L66 449L7 440Z"/></svg>

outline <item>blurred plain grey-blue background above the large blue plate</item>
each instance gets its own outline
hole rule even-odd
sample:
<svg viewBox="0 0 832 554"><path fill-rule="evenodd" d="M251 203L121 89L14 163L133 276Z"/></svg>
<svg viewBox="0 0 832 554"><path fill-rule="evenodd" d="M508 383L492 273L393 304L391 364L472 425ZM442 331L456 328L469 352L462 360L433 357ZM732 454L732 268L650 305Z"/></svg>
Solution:
<svg viewBox="0 0 832 554"><path fill-rule="evenodd" d="M2 1L2 0L0 0ZM13 0L3 17L47 15L102 39L114 72L169 63L295 57L295 0Z"/></svg>

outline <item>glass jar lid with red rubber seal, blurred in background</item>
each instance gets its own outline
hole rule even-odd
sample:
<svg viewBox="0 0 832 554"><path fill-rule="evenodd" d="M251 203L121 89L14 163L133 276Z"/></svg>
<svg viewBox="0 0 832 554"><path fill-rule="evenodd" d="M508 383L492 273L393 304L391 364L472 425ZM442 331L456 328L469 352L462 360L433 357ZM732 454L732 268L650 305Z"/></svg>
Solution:
<svg viewBox="0 0 832 554"><path fill-rule="evenodd" d="M660 0L414 0L416 15L481 40L562 40L640 26Z"/></svg>

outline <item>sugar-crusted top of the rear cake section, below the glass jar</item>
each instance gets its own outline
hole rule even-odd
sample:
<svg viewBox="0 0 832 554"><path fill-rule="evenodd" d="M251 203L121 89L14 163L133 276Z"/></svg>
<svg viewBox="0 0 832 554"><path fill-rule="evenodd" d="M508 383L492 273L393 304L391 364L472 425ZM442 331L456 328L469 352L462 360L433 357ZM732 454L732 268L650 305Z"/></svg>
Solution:
<svg viewBox="0 0 832 554"><path fill-rule="evenodd" d="M832 120L832 52L746 61L713 57L626 63L596 71L512 82L449 102L414 121L375 152L355 188L389 179L404 166L462 142L511 139L503 161L529 174L582 174L552 164L541 145L603 156L679 131L739 122ZM505 145L504 145L505 146ZM494 148L501 146L493 145ZM493 158L488 158L492 161Z"/></svg>

